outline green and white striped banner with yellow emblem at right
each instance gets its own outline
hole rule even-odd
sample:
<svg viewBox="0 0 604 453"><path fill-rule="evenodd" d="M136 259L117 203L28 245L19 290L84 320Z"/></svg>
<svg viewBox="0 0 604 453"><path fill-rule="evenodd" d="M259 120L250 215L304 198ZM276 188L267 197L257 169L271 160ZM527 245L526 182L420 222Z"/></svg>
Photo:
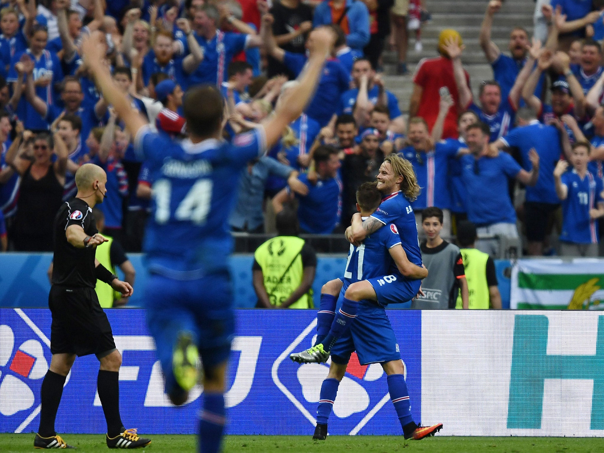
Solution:
<svg viewBox="0 0 604 453"><path fill-rule="evenodd" d="M518 260L512 268L510 308L604 309L604 260Z"/></svg>

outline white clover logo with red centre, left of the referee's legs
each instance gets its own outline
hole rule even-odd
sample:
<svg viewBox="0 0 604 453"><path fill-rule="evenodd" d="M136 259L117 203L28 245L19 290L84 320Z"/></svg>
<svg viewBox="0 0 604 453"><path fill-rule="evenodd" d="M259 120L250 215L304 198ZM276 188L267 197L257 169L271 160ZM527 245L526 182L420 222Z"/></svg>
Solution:
<svg viewBox="0 0 604 453"><path fill-rule="evenodd" d="M50 340L21 309L2 310L0 431L23 432L40 413L40 386L50 363Z"/></svg>

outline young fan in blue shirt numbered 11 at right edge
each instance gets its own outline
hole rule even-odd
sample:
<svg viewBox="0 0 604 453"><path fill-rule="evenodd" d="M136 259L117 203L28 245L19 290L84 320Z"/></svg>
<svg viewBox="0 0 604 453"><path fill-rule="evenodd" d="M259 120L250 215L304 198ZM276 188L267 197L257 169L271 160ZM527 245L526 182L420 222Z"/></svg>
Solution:
<svg viewBox="0 0 604 453"><path fill-rule="evenodd" d="M604 216L602 199L602 179L587 169L590 147L585 143L573 145L571 162L573 169L567 171L568 162L560 161L556 165L554 179L556 193L562 200L563 243L594 244L591 251L585 247L585 254L597 256L599 242L598 219ZM564 252L564 248L563 248Z"/></svg>

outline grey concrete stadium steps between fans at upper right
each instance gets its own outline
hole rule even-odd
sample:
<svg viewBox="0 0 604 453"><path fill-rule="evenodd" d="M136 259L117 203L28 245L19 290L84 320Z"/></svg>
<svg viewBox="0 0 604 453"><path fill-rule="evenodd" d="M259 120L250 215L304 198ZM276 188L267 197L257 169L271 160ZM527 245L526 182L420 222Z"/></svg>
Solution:
<svg viewBox="0 0 604 453"><path fill-rule="evenodd" d="M417 62L426 57L437 56L439 33L445 28L459 31L466 46L462 61L464 68L470 74L474 95L482 80L492 79L493 71L487 63L484 53L478 43L480 24L483 21L487 0L426 0L426 8L432 14L432 20L422 29L423 52L414 52L414 32L409 39L407 54L408 76L396 76L396 53L384 52L384 80L387 88L399 98L401 111L408 111L409 99L413 91L413 73ZM503 7L495 15L492 29L492 39L498 47L507 53L509 34L513 27L524 27L532 35L533 12L535 2L530 0L506 0Z"/></svg>

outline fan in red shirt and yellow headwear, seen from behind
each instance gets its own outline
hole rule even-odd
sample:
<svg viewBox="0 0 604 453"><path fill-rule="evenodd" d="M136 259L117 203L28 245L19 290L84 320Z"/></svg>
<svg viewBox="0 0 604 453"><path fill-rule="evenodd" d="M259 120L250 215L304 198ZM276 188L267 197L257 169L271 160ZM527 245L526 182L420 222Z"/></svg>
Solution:
<svg viewBox="0 0 604 453"><path fill-rule="evenodd" d="M439 90L446 86L455 101L454 106L449 109L445 118L443 129L443 139L457 138L457 116L460 113L459 93L455 85L453 74L453 63L445 50L445 43L448 40L457 41L462 44L461 36L455 30L443 30L439 36L439 57L426 58L419 62L416 74L413 77L413 94L409 106L409 116L422 117L428 123L430 130L436 122L439 114L440 94ZM470 76L464 71L467 83L470 83Z"/></svg>

